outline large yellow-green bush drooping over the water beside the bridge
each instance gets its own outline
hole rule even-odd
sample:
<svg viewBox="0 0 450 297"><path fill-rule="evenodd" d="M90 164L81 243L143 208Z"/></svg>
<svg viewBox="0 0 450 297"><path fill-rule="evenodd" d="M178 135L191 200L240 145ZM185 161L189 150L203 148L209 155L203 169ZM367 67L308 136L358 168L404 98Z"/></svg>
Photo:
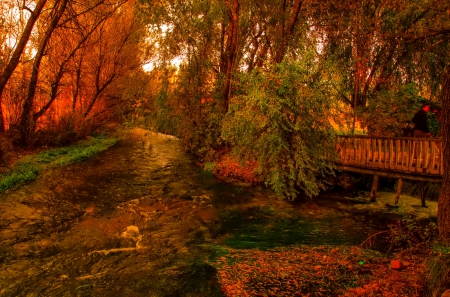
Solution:
<svg viewBox="0 0 450 297"><path fill-rule="evenodd" d="M222 137L240 160L258 162L265 183L294 199L301 189L317 195L318 177L331 173L334 102L314 59L283 62L241 77L246 94L233 98ZM322 185L323 186L323 185Z"/></svg>

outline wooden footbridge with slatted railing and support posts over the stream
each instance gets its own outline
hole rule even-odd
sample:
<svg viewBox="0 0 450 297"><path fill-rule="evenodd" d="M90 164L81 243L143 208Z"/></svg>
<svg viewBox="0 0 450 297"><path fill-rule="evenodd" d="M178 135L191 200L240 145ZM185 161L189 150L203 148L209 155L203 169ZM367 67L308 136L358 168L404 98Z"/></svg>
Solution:
<svg viewBox="0 0 450 297"><path fill-rule="evenodd" d="M398 202L403 179L420 181L423 206L423 182L442 181L441 139L338 136L336 152L338 169L374 175L371 200L375 200L379 176L399 179L395 203Z"/></svg>

